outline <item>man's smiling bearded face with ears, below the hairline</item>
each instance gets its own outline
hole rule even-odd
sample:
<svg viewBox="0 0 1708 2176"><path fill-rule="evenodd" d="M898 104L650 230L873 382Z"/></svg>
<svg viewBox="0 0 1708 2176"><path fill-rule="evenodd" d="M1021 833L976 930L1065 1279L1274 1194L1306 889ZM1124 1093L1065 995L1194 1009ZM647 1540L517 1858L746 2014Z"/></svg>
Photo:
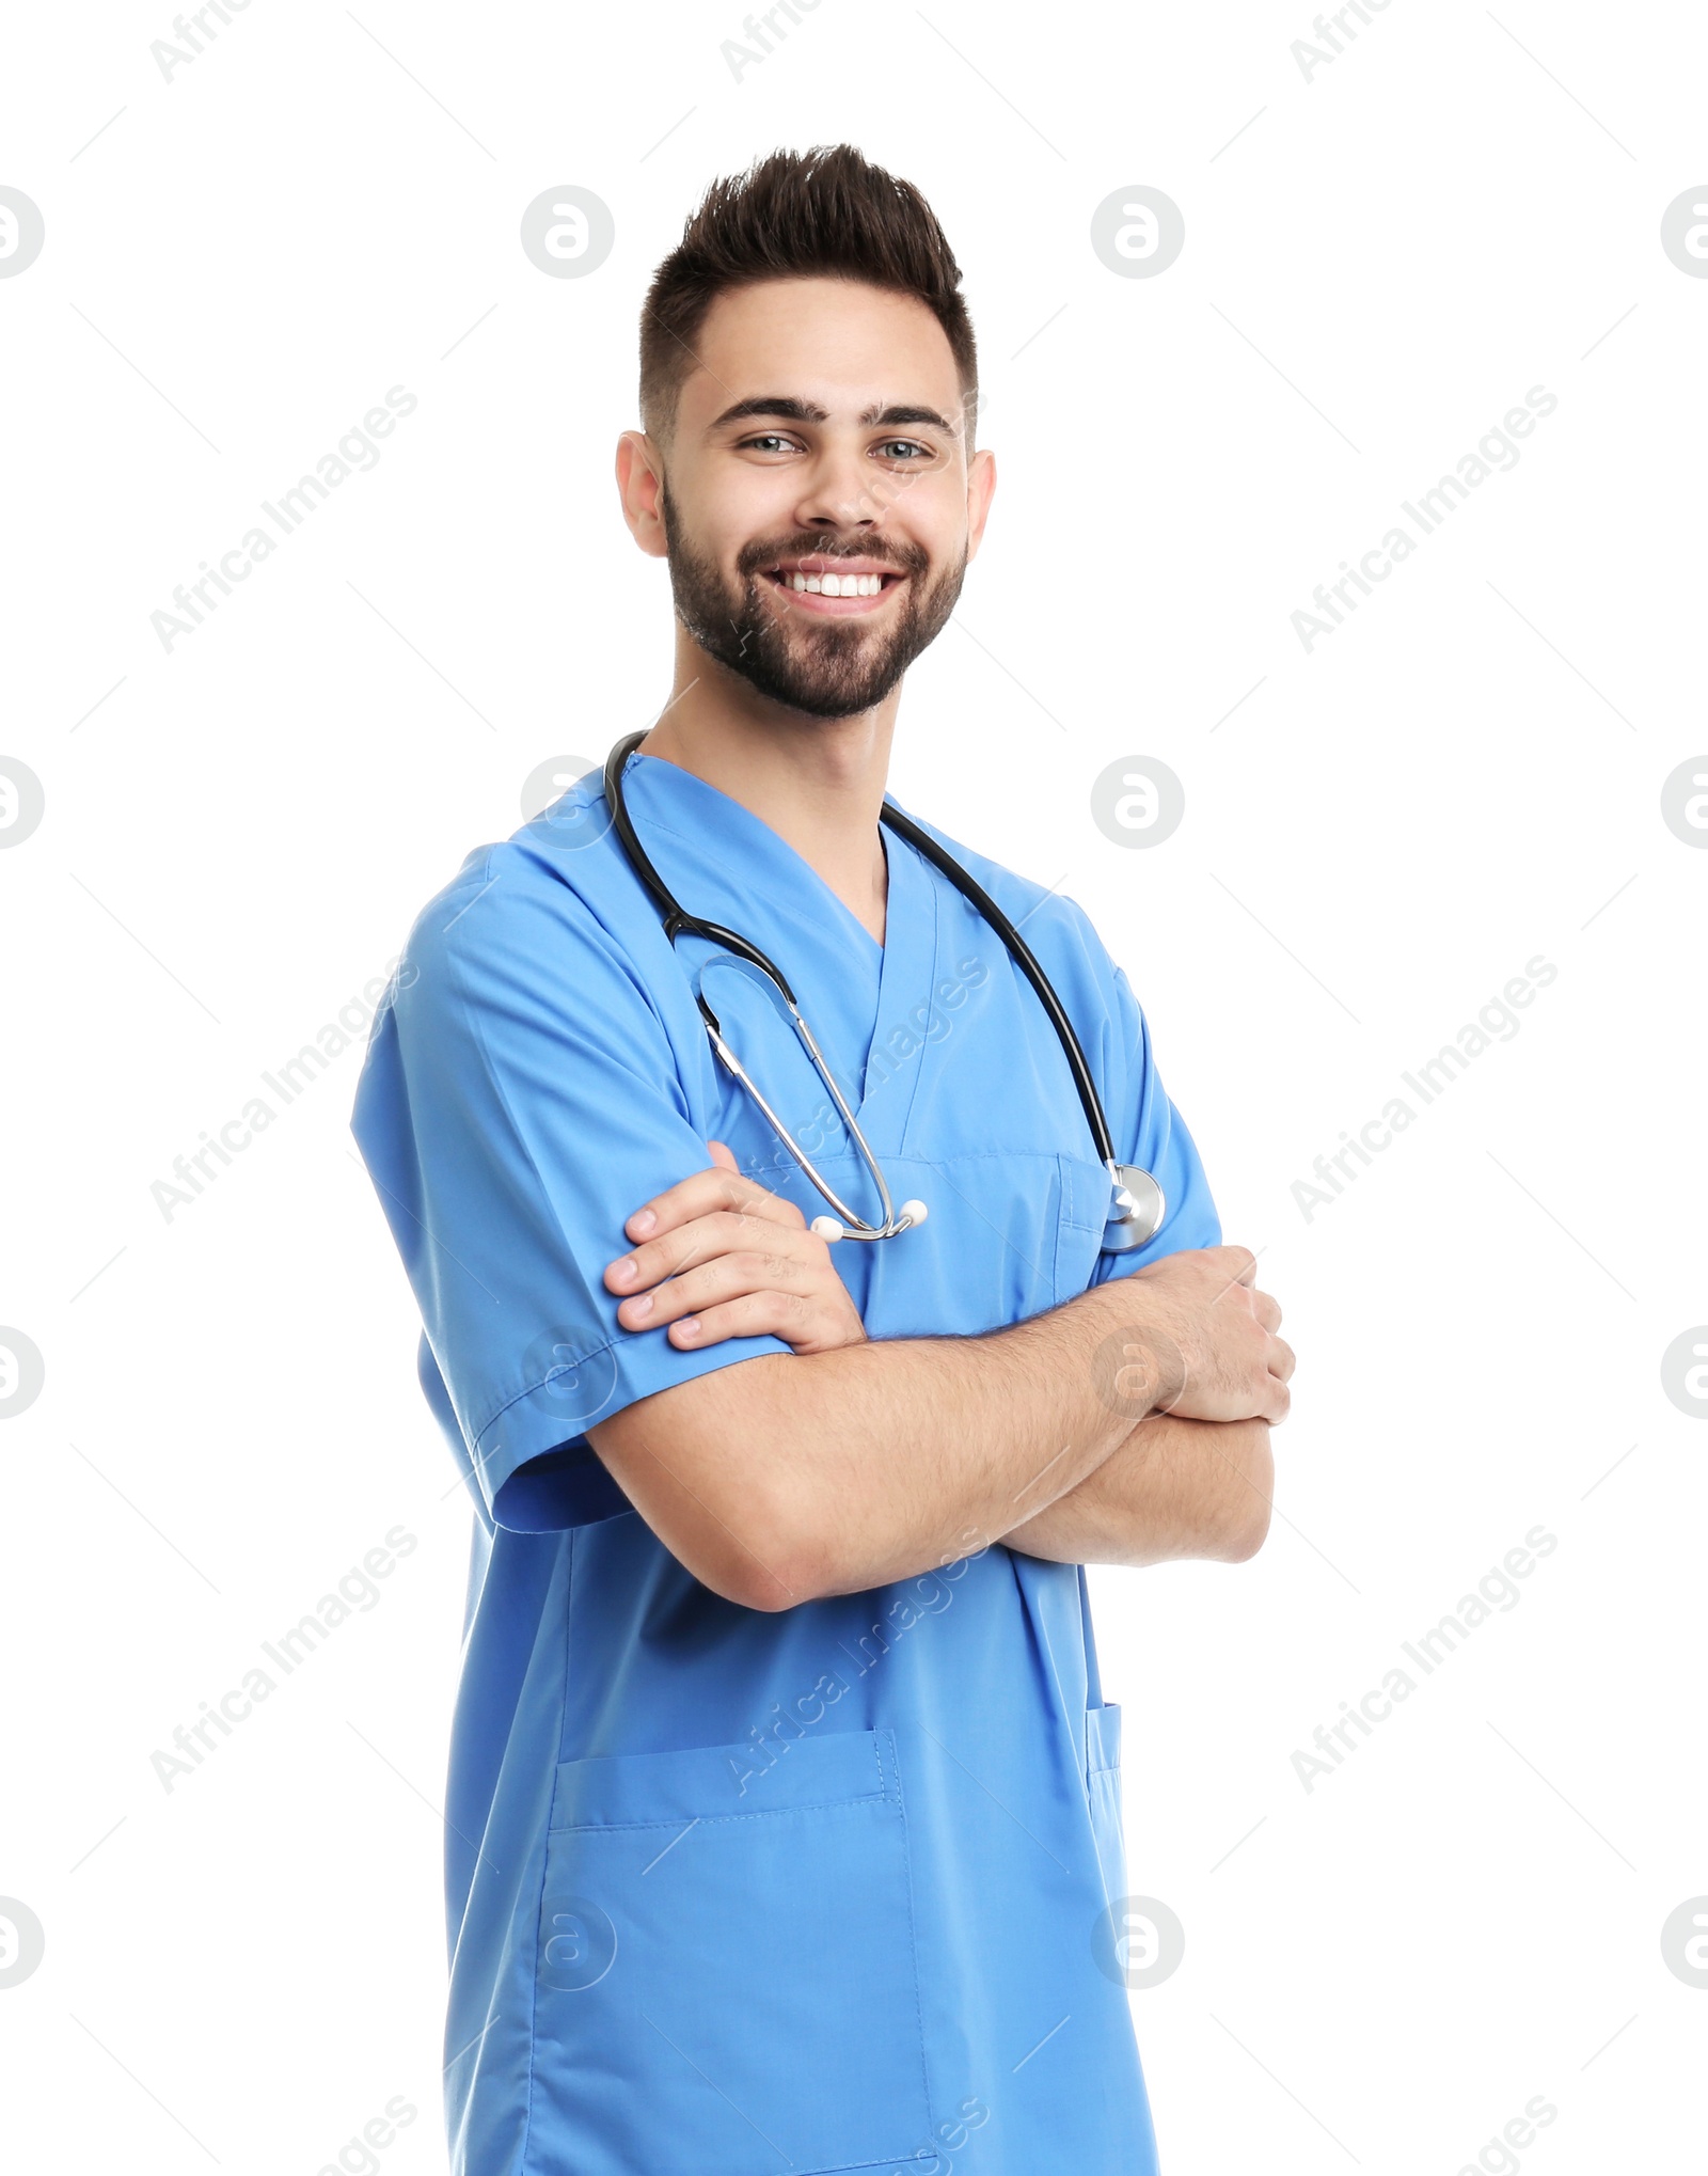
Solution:
<svg viewBox="0 0 1708 2176"><path fill-rule="evenodd" d="M738 287L707 311L668 446L646 442L664 481L644 520L629 494L631 527L709 657L851 718L955 609L994 485L968 435L923 302L842 279Z"/></svg>

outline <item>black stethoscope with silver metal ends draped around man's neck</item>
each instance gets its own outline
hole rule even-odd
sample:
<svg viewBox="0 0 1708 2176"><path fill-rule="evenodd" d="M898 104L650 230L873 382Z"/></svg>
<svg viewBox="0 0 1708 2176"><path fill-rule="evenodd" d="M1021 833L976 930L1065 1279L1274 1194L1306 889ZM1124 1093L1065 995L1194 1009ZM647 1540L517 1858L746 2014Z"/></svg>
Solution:
<svg viewBox="0 0 1708 2176"><path fill-rule="evenodd" d="M705 1021L705 1031L711 1038L711 1049L718 1053L725 1068L742 1084L742 1088L746 1088L746 1092L766 1114L766 1121L777 1132L783 1147L801 1164L801 1169L812 1179L816 1190L825 1197L825 1201L836 1210L836 1216L814 1216L812 1229L827 1240L894 1238L899 1232L907 1232L912 1225L925 1223L927 1210L923 1201L903 1201L901 1210L892 1206L890 1188L883 1179L883 1166L872 1155L866 1136L859 1132L859 1121L849 1110L849 1101L838 1088L836 1075L825 1064L825 1053L818 1049L818 1038L807 1027L801 1007L794 1001L794 990L790 990L777 964L768 960L757 944L751 944L744 936L738 936L733 929L725 929L720 923L703 923L698 914L688 914L688 910L677 901L677 897L666 886L664 877L659 877L659 873L653 868L646 849L640 844L640 838L635 836L635 827L622 796L622 772L629 764L629 757L635 753L642 740L646 740L644 731L629 733L627 740L620 740L611 749L609 757L605 759L605 801L611 809L611 829L616 831L618 842L622 844L622 851L629 857L629 866L646 886L646 890L653 894L653 903L664 916L666 938L670 938L670 944L674 944L679 936L688 934L705 938L711 944L722 944L725 951L735 953L738 960L746 960L748 966L757 968L766 977L766 981L772 984L777 994L788 1005L794 1031L801 1036L801 1047L805 1049L818 1077L829 1090L831 1101L842 1114L842 1123L849 1127L849 1134L853 1136L866 1162L866 1169L872 1175L872 1184L877 1186L877 1197L883 1203L883 1223L872 1225L866 1223L866 1219L859 1216L855 1210L851 1210L849 1203L829 1186L829 1182L822 1177L822 1173L812 1162L807 1151L794 1140L790 1129L770 1108L762 1088L746 1071L738 1053L725 1040L722 1027L718 1025L718 1016L705 1001L705 992L694 990L694 1003L701 1007L701 1018ZM990 927L1007 947L1014 964L1020 968L1031 988L1038 992L1038 1003L1049 1014L1049 1023L1055 1029L1057 1040L1062 1042L1064 1058L1068 1060L1073 1084L1079 1090L1079 1101L1086 1110L1086 1123L1090 1125L1092 1140L1097 1142L1097 1153L1103 1162L1103 1169L1110 1173L1112 1195L1110 1195L1110 1214L1103 1225L1101 1251L1131 1253L1134 1247L1142 1247L1149 1238L1158 1234L1166 1212L1166 1201L1162 1197L1162 1188L1158 1186L1158 1182L1151 1177L1149 1171L1140 1171L1138 1164L1118 1164L1114 1160L1110 1123L1103 1116L1103 1103L1097 1095L1097 1084L1092 1081L1090 1066L1086 1064L1086 1053L1079 1049L1079 1036L1073 1031L1073 1021L1062 1010L1062 1001L1051 988L1049 975L1038 966L1029 944L1014 927L1014 923L1003 914L1003 910L997 905L990 892L986 892L981 883L968 877L968 873L960 866L960 862L951 853L946 853L931 838L929 831L923 831L909 816L903 816L901 809L894 807L890 801L886 801L883 807L879 809L879 820L886 823L899 838L905 838L909 846L916 846L927 857L927 862L933 862L942 870L942 875L949 877L955 890L973 903L973 907L983 916L986 923L990 923Z"/></svg>

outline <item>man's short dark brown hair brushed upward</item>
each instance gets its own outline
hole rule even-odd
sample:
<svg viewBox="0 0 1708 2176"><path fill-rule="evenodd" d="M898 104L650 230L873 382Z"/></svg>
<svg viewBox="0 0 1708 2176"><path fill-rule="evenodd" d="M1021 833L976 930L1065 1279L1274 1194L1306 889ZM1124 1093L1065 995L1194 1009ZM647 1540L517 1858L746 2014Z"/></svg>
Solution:
<svg viewBox="0 0 1708 2176"><path fill-rule="evenodd" d="M866 281L925 302L949 337L973 444L979 359L962 268L912 181L870 165L853 144L775 150L705 191L640 313L640 413L653 437L677 420L714 300L766 279Z"/></svg>

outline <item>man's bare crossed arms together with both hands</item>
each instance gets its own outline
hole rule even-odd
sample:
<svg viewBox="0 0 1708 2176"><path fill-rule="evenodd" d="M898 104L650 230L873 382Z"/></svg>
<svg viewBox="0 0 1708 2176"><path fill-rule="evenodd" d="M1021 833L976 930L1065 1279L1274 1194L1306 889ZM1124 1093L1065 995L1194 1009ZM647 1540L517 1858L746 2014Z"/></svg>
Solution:
<svg viewBox="0 0 1708 2176"><path fill-rule="evenodd" d="M801 1212L720 1142L711 1158L629 1219L605 1271L618 1319L681 1349L770 1332L794 1358L590 1430L707 1586L775 1610L990 1541L1121 1565L1260 1547L1292 1353L1245 1249L1171 1256L986 1336L875 1343Z"/></svg>

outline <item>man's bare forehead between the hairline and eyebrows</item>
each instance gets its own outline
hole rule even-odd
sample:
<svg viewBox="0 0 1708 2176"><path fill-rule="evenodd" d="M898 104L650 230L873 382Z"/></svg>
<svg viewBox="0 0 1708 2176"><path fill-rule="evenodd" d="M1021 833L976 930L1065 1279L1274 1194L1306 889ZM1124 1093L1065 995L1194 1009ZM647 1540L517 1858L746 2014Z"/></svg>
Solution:
<svg viewBox="0 0 1708 2176"><path fill-rule="evenodd" d="M679 422L703 431L762 394L812 400L833 420L920 403L953 416L960 379L949 335L912 294L846 279L775 279L720 294L694 342Z"/></svg>

